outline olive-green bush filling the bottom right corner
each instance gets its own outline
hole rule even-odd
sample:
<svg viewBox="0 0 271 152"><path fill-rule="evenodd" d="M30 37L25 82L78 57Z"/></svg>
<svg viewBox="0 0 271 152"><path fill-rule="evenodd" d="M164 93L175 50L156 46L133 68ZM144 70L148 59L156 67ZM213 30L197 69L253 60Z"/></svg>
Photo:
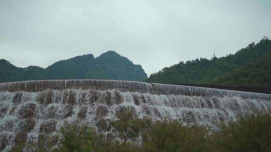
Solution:
<svg viewBox="0 0 271 152"><path fill-rule="evenodd" d="M216 151L271 151L271 116L257 113L223 123L212 138Z"/></svg>

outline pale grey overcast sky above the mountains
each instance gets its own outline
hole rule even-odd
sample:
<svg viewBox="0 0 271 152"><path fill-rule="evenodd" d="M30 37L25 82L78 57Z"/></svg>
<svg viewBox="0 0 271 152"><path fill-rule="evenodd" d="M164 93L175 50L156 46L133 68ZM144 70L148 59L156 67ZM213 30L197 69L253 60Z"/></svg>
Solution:
<svg viewBox="0 0 271 152"><path fill-rule="evenodd" d="M271 0L0 0L0 58L26 67L115 50L150 75L271 37Z"/></svg>

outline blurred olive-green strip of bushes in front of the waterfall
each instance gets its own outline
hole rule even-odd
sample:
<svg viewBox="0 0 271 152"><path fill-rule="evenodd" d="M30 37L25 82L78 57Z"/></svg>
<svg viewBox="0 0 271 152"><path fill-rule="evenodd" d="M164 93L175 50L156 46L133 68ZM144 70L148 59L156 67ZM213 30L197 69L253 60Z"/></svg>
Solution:
<svg viewBox="0 0 271 152"><path fill-rule="evenodd" d="M59 146L36 151L271 151L271 116L253 114L221 123L218 129L176 120L139 119L131 112L117 115L116 136L108 139L93 128L67 125L59 132ZM117 139L117 140L116 140ZM20 151L14 148L13 151Z"/></svg>

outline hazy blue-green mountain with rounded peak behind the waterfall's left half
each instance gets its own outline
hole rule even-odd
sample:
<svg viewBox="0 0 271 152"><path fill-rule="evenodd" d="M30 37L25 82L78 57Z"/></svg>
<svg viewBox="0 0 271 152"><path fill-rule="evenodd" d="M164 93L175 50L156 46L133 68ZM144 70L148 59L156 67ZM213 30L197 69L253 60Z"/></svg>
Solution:
<svg viewBox="0 0 271 152"><path fill-rule="evenodd" d="M92 54L60 60L47 68L17 67L5 59L0 60L0 82L36 79L121 79L143 80L147 74L141 65L107 51L94 58Z"/></svg>

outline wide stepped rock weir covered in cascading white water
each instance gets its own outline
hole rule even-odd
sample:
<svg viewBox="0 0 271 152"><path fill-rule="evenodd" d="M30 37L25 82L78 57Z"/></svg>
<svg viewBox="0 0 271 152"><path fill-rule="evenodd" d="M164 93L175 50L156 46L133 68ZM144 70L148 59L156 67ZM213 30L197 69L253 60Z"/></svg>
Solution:
<svg viewBox="0 0 271 152"><path fill-rule="evenodd" d="M271 94L121 80L0 83L0 151L15 143L54 144L56 131L66 123L110 136L108 120L127 109L153 120L215 126L252 112L271 112Z"/></svg>

